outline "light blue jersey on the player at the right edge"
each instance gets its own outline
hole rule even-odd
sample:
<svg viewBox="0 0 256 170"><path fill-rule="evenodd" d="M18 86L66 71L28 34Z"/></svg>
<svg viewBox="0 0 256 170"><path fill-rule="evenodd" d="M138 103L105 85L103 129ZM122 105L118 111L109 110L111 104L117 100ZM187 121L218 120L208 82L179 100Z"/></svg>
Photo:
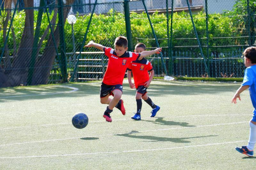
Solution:
<svg viewBox="0 0 256 170"><path fill-rule="evenodd" d="M249 91L250 91L250 96L252 100L252 105L254 107L254 115L256 116L256 65L247 67L244 70L244 80L242 83L242 86L244 85L249 85Z"/></svg>

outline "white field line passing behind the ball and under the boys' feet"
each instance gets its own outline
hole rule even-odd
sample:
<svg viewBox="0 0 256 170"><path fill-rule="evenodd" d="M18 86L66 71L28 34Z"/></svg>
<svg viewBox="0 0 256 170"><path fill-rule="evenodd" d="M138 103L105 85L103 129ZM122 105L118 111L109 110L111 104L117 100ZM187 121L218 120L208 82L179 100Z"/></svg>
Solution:
<svg viewBox="0 0 256 170"><path fill-rule="evenodd" d="M236 114L236 115L187 115L187 116L168 116L168 117L163 117L163 118L174 118L174 117L206 117L206 116L244 116L244 115L251 115L252 114ZM158 118L158 117L155 117ZM152 119L152 117L146 117L143 119ZM113 121L126 121L126 120L131 120L129 119L116 119ZM106 121L89 121L89 123L95 123L95 122L106 122ZM249 122L249 121L248 121ZM42 125L33 125L33 126L17 126L17 127L11 127L11 128L0 128L0 130L7 130L7 129L17 129L17 128L29 128L29 127L38 127L38 126L57 126L57 125L65 125L65 124L72 124L71 122L69 123L52 123L52 124L42 124Z"/></svg>

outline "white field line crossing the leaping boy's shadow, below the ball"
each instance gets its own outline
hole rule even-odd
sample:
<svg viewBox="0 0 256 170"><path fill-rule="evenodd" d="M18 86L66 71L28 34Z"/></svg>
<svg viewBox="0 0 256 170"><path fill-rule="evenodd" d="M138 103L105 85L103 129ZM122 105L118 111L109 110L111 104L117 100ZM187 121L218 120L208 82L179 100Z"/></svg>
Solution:
<svg viewBox="0 0 256 170"><path fill-rule="evenodd" d="M136 132L130 132L130 133L129 133L129 132L128 132L128 133L126 132L126 133L96 135L96 136L88 136L88 137L102 137L102 136L123 135L123 134L133 134L133 133L144 133L144 132L164 131L164 130L173 130L173 129L201 128L201 127L220 126L220 125L231 125L231 124L239 124L239 123L248 123L248 121L246 121L246 122L233 122L233 123L211 124L211 125L200 125L200 126L195 126L195 127L180 127L180 128L154 129L154 130L144 130L144 131L136 131ZM71 138L62 138L62 139L50 139L50 140L41 140L41 141L21 142L21 143L13 143L13 144L1 144L0 146L10 146L10 145L18 145L18 144L31 144L31 143L42 143L42 142L53 142L53 141L71 140L71 139L79 139L79 138L84 138L84 137L71 137Z"/></svg>

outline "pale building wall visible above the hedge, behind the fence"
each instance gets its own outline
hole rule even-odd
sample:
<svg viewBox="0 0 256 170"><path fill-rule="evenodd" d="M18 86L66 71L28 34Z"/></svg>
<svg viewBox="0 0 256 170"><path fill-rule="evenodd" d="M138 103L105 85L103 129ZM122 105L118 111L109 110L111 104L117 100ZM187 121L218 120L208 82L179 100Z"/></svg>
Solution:
<svg viewBox="0 0 256 170"><path fill-rule="evenodd" d="M22 1L22 0L21 0ZM65 1L65 0L64 0ZM120 0L98 0L98 3L106 3ZM222 13L225 10L232 10L233 5L236 0L208 0L208 12L209 13ZM40 0L34 0L34 5L39 6ZM46 0L47 4L54 3L55 0ZM94 3L95 0L75 0L74 7L72 7L73 13L90 13L92 11L93 5L84 5L89 3ZM171 0L168 1L169 7L171 7ZM204 6L205 0L189 0L191 6ZM145 0L147 9L165 9L165 0ZM174 8L187 7L187 0L174 0ZM142 1L132 1L129 3L130 10L144 10ZM110 9L115 9L116 11L123 11L122 4L109 4L109 5L97 5L96 13L107 13Z"/></svg>

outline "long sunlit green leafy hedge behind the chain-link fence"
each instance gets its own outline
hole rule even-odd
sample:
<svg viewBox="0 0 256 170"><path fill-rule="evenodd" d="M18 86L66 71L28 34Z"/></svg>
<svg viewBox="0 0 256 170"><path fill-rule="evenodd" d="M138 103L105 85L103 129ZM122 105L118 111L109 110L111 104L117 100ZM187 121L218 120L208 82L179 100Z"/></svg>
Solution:
<svg viewBox="0 0 256 170"><path fill-rule="evenodd" d="M243 1L245 0L239 0ZM244 45L244 39L247 38L239 38L240 36L244 36L244 31L239 31L237 27L243 22L246 18L241 18L238 20L237 17L229 17L232 15L240 15L243 14L243 11L240 10L240 2L237 2L234 6L233 11L226 11L222 14L209 14L209 46L210 46L210 54L214 54L214 56L219 56L223 51L230 52L237 49L236 47L231 48L223 48L216 46L237 46ZM243 8L244 8L244 4ZM252 7L256 5L256 3L251 3ZM254 8L253 8L254 9ZM36 28L36 17L38 11L35 12L35 21L34 27ZM253 10L251 10L252 14ZM76 51L79 51L84 39L84 34L87 28L87 24L89 22L91 14L79 16L76 14L76 24L74 25L75 32L75 42L76 42ZM51 13L51 18L53 16L53 12ZM156 47L151 27L148 22L147 14L144 13L135 13L132 12L131 15L131 29L132 29L132 44L135 45L137 42L143 42L146 44L148 48ZM167 24L166 24L166 14L155 12L150 15L153 27L155 29L155 33L157 38L159 39L160 47L168 47L167 41ZM198 32L198 36L200 38L200 42L202 46L206 46L206 24L205 24L205 12L200 11L196 14L193 14L194 22L196 25L196 30ZM255 16L254 16L255 18ZM58 17L57 17L58 20ZM25 21L25 12L20 11L14 17L13 27L15 31L15 40L17 46L19 46L19 42L21 39L21 35L24 28ZM254 20L252 20L253 22ZM46 17L46 13L43 14L42 25L40 36L43 35L44 30L48 26L48 20ZM66 52L73 51L73 43L72 43L72 29L71 25L68 22L65 23L65 40L66 40ZM47 43L47 38L50 33L47 34L46 39L43 41L42 47L44 47ZM97 43L100 43L104 46L113 47L114 40L117 36L124 35L126 36L125 29L125 19L124 14L113 11L112 9L107 14L94 14L91 22L90 29L87 34L87 41L94 40ZM0 36L3 37L3 31L0 32ZM173 39L172 45L173 52L189 52L190 57L198 57L200 53L199 48L197 47L197 40L195 39L195 32L193 29L193 25L190 19L190 15L188 12L176 12L173 15ZM224 37L238 37L238 38L224 38ZM140 38L140 39L136 39ZM85 43L86 43L85 42ZM3 47L3 41L0 41L0 47ZM12 55L13 48L13 37L12 34L9 35L8 38L8 46L11 49L10 53ZM191 47L188 47L191 46ZM43 52L43 48L40 50L40 53ZM95 49L88 49L95 50ZM167 48L164 48L164 51L167 51ZM203 48L204 55L206 55L206 48ZM225 57L225 55L224 55Z"/></svg>

